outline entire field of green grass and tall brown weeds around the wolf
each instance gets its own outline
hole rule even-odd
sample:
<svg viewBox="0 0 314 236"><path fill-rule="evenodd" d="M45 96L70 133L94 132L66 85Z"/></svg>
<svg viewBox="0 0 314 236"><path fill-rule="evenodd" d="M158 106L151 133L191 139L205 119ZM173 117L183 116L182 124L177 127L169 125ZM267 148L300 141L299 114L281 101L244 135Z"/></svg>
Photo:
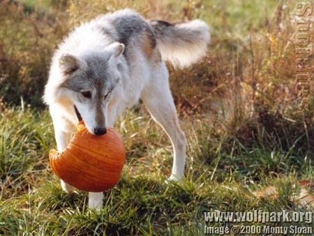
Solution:
<svg viewBox="0 0 314 236"><path fill-rule="evenodd" d="M313 96L308 111L294 103L294 1L34 2L25 1L24 9L7 8L12 22L0 14L5 23L0 28L0 235L223 235L206 229L232 226L242 229L242 235L260 235L253 230L264 225L312 228L314 234L313 216L311 222L267 223L207 222L204 217L205 212L313 212L311 202L301 204L298 197L301 189L313 193L314 184L301 186L299 181L313 180L314 124ZM124 137L126 163L96 214L87 208L86 192L66 194L50 169L47 155L56 145L40 89L66 27L80 17L126 6L165 20L200 17L211 25L213 40L200 63L184 71L170 66L188 140L184 182L165 183L172 165L170 141L140 104L115 126ZM14 15L25 9L31 13L24 18ZM50 22L55 14L64 26ZM36 17L44 20L39 24ZM17 47L10 47L8 38L29 36L27 30L16 34L8 27L19 20L31 26L29 31L38 24L40 34L31 38L36 45L15 40ZM14 90L19 83L23 89ZM31 84L39 85L27 90ZM267 186L274 186L276 194L253 194Z"/></svg>

